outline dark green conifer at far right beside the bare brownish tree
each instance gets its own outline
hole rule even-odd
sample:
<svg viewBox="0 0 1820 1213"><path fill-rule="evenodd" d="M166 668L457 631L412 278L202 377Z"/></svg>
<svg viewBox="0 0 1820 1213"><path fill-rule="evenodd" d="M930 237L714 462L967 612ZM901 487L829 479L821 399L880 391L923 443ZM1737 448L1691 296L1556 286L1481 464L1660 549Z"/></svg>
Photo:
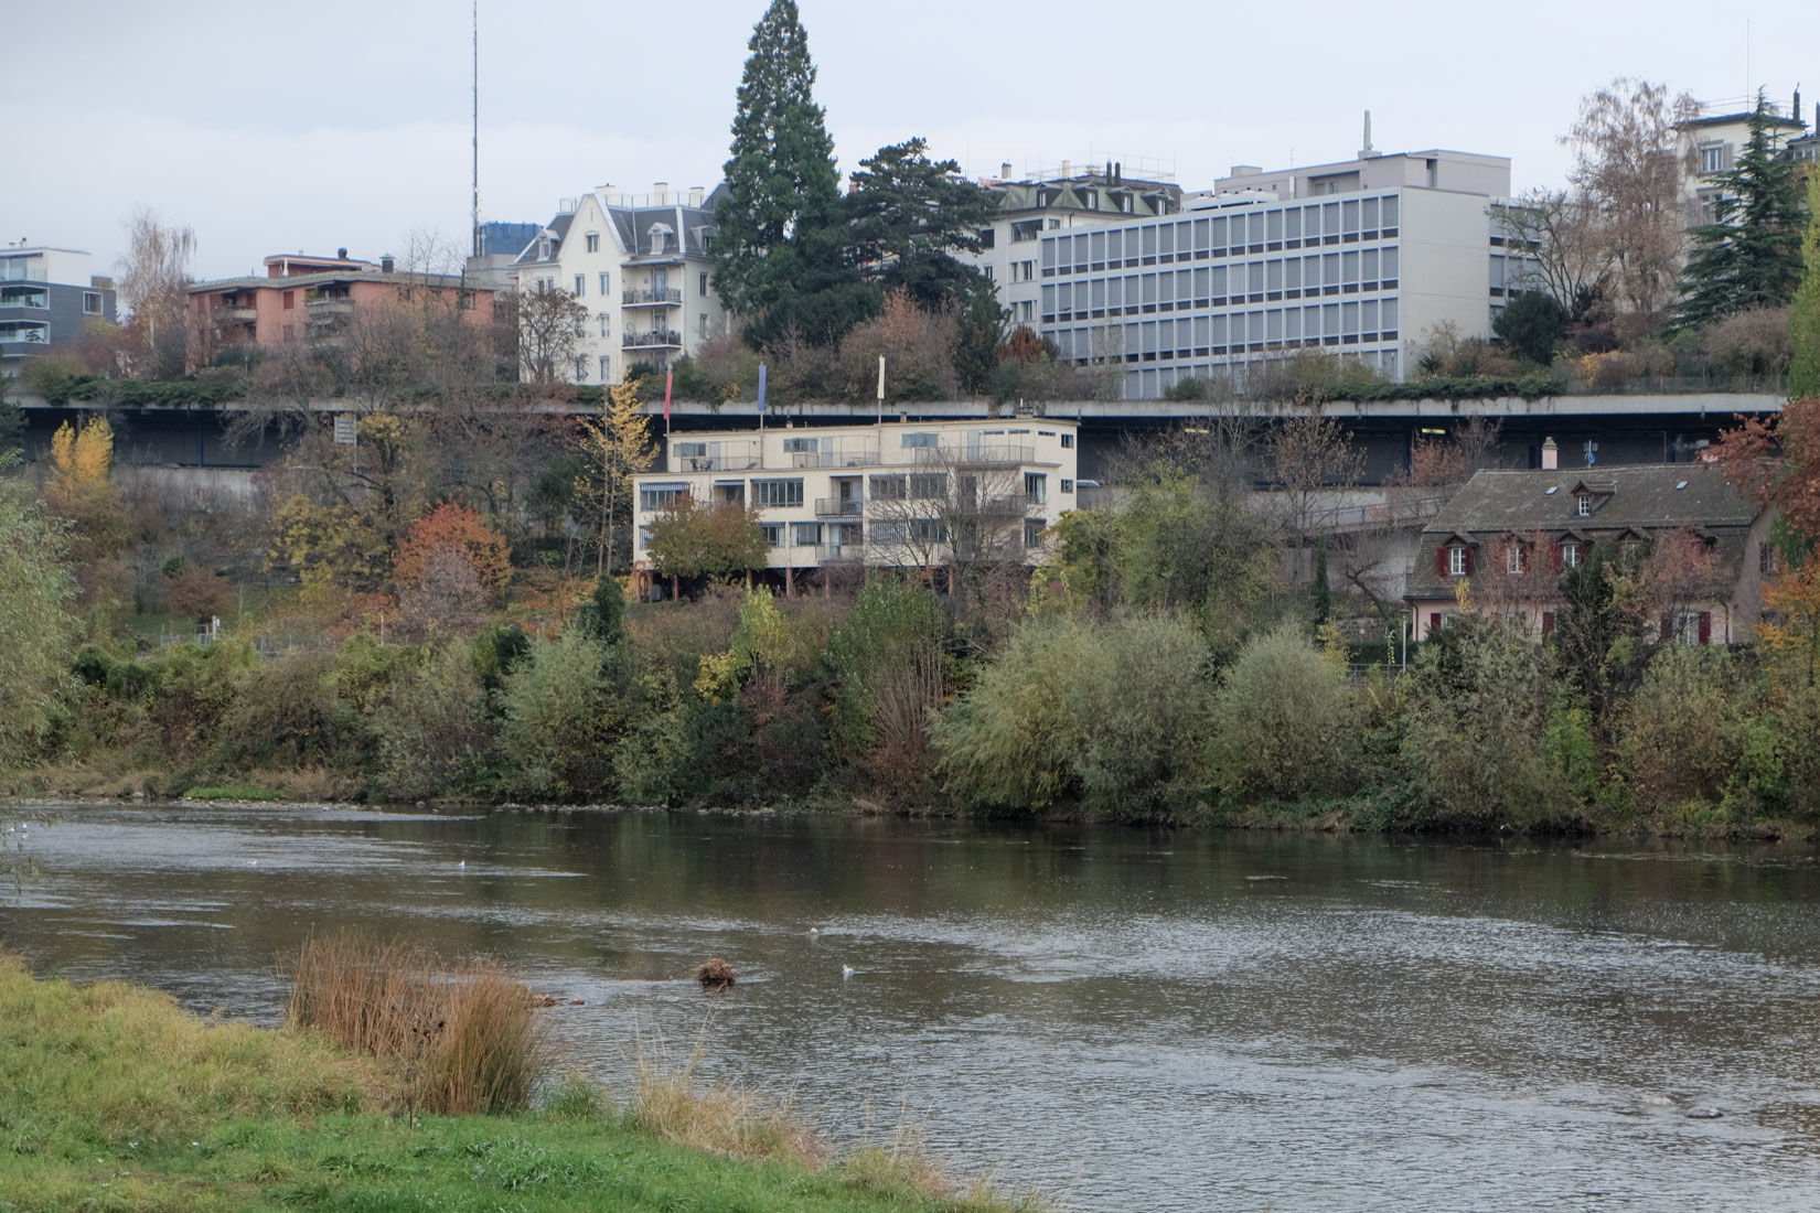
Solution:
<svg viewBox="0 0 1820 1213"><path fill-rule="evenodd" d="M1713 178L1720 189L1714 222L1693 231L1694 251L1682 271L1676 327L1696 329L1795 298L1807 215L1795 160L1771 140L1771 116L1769 102L1758 93L1744 153Z"/></svg>

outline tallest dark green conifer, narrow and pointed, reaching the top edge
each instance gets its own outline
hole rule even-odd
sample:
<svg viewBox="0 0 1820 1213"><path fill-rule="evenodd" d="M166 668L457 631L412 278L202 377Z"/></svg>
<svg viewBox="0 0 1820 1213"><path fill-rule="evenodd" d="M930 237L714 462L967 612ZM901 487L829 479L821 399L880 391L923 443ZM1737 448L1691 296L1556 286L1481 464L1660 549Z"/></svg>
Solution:
<svg viewBox="0 0 1820 1213"><path fill-rule="evenodd" d="M794 0L772 0L746 47L710 253L721 302L752 316L837 286L844 240L834 140Z"/></svg>

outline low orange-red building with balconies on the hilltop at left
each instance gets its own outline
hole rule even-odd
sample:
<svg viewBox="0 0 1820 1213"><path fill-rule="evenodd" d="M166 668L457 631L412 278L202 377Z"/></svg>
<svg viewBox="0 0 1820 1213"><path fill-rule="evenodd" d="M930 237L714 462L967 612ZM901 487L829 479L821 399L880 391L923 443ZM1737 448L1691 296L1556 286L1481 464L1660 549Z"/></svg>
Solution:
<svg viewBox="0 0 1820 1213"><path fill-rule="evenodd" d="M493 291L460 275L400 273L386 256L375 262L278 253L264 278L222 278L189 287L189 364L207 366L235 346L284 346L333 338L359 307L399 298L428 298L462 311L473 324L491 324Z"/></svg>

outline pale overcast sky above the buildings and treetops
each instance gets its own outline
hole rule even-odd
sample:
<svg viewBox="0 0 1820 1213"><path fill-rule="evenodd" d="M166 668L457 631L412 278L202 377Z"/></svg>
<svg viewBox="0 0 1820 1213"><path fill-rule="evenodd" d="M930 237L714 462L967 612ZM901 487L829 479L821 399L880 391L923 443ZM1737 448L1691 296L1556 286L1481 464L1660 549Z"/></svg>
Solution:
<svg viewBox="0 0 1820 1213"><path fill-rule="evenodd" d="M766 0L479 0L480 215L544 222L612 182L713 185ZM841 171L923 135L972 175L1063 158L1172 167L1380 151L1512 158L1558 184L1587 91L1640 75L1696 98L1820 100L1811 4L1656 0L799 0ZM0 0L9 129L0 240L111 273L151 207L195 273L280 251L377 258L468 242L470 0Z"/></svg>

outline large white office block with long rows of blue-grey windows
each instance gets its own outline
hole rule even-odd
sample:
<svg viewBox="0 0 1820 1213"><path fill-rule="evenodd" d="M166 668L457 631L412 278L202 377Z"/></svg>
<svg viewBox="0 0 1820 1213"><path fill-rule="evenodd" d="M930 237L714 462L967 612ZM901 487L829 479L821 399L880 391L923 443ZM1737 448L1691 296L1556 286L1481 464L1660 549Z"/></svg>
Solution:
<svg viewBox="0 0 1820 1213"><path fill-rule="evenodd" d="M1037 331L1123 362L1127 398L1307 347L1400 380L1436 324L1491 335L1518 278L1492 211L1509 193L1509 158L1458 151L1239 165L1179 215L1043 231Z"/></svg>

